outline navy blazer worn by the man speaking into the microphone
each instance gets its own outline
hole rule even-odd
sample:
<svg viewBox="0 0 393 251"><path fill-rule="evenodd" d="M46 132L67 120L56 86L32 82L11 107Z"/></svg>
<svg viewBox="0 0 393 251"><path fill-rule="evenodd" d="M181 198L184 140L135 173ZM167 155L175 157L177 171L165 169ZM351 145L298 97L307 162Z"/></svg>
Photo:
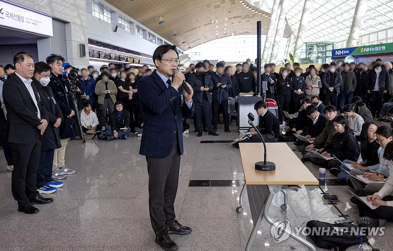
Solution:
<svg viewBox="0 0 393 251"><path fill-rule="evenodd" d="M188 108L183 100L183 87L178 91L165 85L156 70L150 76L138 80L138 95L143 117L143 134L141 138L140 155L153 158L165 158L173 144L179 144L180 154L183 154L183 116L192 117L195 112L194 104Z"/></svg>

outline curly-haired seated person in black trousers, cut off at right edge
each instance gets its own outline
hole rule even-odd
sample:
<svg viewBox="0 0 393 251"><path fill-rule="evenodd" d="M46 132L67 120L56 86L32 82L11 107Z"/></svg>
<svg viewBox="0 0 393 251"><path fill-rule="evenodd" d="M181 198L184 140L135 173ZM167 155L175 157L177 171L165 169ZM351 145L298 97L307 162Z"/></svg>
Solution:
<svg viewBox="0 0 393 251"><path fill-rule="evenodd" d="M393 143L389 142L383 154L383 159L386 160L386 164L389 169L393 167ZM385 184L379 191L371 191L369 189L358 189L355 194L359 197L367 196L367 200L371 201L376 209L370 209L365 206L362 202L356 198L351 198L351 202L358 205L359 216L367 216L373 219L384 219L387 221L393 221L393 179L391 177L386 179Z"/></svg>

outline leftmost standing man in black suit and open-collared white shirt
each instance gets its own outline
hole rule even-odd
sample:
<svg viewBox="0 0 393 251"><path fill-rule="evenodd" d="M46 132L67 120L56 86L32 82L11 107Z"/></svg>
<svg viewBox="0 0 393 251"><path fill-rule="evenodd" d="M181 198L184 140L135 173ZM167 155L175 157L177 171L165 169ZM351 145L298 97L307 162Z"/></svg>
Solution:
<svg viewBox="0 0 393 251"><path fill-rule="evenodd" d="M18 202L18 211L32 214L39 211L32 204L53 202L51 198L42 198L36 187L41 135L48 126L48 113L37 87L31 84L33 58L25 52L17 53L14 65L15 74L3 86L7 109L7 142L14 161L11 191Z"/></svg>

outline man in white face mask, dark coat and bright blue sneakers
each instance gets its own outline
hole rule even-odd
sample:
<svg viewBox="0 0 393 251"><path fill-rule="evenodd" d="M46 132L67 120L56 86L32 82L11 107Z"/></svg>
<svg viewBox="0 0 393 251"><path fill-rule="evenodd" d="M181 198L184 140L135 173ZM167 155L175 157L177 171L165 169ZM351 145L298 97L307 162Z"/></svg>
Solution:
<svg viewBox="0 0 393 251"><path fill-rule="evenodd" d="M39 193L50 194L57 191L57 187L63 186L63 182L58 182L52 178L52 165L55 149L61 147L59 126L63 120L63 115L53 96L52 89L48 86L50 82L50 66L45 62L34 64L34 77L32 78L38 93L48 112L48 127L41 140L40 162L37 170L37 191Z"/></svg>

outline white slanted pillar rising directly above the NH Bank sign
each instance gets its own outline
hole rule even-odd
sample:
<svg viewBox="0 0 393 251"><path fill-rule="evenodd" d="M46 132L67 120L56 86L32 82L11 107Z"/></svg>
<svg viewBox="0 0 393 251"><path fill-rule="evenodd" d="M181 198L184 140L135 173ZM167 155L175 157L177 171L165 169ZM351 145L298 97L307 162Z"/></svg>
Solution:
<svg viewBox="0 0 393 251"><path fill-rule="evenodd" d="M363 18L367 11L368 0L358 0L355 8L355 14L353 15L351 31L347 41L347 47L358 46L358 39L360 31L362 30Z"/></svg>

